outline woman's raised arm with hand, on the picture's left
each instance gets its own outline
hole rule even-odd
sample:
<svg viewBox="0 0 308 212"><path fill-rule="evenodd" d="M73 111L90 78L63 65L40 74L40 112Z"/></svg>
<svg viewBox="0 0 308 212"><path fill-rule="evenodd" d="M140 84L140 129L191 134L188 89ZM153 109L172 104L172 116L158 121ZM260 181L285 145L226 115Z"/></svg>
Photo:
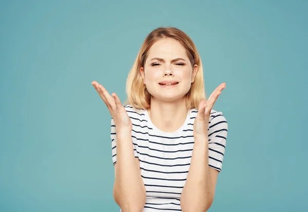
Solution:
<svg viewBox="0 0 308 212"><path fill-rule="evenodd" d="M146 192L141 178L140 166L134 157L131 140L131 120L117 94L108 91L98 82L92 85L105 102L116 129L117 165L114 165L113 197L123 212L143 210Z"/></svg>

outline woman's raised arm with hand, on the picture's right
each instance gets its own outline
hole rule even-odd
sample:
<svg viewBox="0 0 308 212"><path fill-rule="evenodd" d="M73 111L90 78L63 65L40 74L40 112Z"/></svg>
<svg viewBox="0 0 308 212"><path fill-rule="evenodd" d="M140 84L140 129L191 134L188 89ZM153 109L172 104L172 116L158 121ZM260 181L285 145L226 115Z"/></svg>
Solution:
<svg viewBox="0 0 308 212"><path fill-rule="evenodd" d="M199 103L198 113L194 122L195 144L192 149L190 167L181 196L181 208L183 212L205 212L213 203L218 170L210 168L208 163L208 137L214 133L208 133L209 118L211 117L211 108L213 108L213 105L225 86L225 83L220 84L210 94L207 101L201 100ZM213 126L218 126L218 123L213 123L213 119L211 121L211 130L213 130ZM221 123L224 123L224 125L227 124L225 120Z"/></svg>

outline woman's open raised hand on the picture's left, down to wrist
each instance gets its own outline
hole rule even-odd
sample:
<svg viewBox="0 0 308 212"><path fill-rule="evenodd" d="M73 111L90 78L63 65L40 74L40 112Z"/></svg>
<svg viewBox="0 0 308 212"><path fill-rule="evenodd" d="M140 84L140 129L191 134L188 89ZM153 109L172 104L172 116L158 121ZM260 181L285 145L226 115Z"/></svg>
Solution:
<svg viewBox="0 0 308 212"><path fill-rule="evenodd" d="M111 114L111 117L114 121L116 130L118 132L119 131L131 132L131 129L132 129L131 120L125 108L121 104L121 101L118 95L115 93L112 93L111 94L112 97L111 97L108 91L96 81L93 81L91 84L98 91L98 93L100 94L100 97L105 102Z"/></svg>

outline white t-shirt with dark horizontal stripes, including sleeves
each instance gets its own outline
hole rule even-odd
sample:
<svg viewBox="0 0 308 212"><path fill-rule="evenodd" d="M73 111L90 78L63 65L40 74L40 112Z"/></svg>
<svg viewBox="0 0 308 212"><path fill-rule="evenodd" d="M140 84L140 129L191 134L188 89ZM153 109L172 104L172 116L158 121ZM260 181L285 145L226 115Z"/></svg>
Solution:
<svg viewBox="0 0 308 212"><path fill-rule="evenodd" d="M185 185L192 148L193 127L198 109L188 111L185 123L175 132L155 127L147 110L126 105L132 122L134 157L139 158L146 189L143 212L182 211L180 198ZM227 138L227 122L222 112L211 110L208 128L209 167L221 171ZM111 119L112 161L117 163L117 137ZM121 210L120 210L121 212Z"/></svg>

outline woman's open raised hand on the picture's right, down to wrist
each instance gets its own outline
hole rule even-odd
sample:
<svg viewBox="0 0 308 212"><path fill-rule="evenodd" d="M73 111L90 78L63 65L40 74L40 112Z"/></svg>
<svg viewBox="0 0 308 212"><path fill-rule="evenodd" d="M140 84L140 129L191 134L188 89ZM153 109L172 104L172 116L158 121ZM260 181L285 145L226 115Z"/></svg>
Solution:
<svg viewBox="0 0 308 212"><path fill-rule="evenodd" d="M200 138L203 140L208 137L208 122L210 117L210 111L213 108L221 91L226 87L225 83L220 84L209 96L206 101L201 100L198 106L198 114L194 123L194 138Z"/></svg>

